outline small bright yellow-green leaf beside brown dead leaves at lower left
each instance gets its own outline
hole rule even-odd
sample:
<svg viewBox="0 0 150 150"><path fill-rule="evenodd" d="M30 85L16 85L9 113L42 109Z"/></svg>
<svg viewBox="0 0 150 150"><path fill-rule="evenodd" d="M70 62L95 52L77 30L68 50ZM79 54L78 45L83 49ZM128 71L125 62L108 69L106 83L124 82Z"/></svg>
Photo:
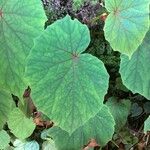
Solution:
<svg viewBox="0 0 150 150"><path fill-rule="evenodd" d="M23 112L15 108L8 119L8 127L11 132L19 139L25 139L29 137L34 129L35 124L33 123L33 119L28 119Z"/></svg>

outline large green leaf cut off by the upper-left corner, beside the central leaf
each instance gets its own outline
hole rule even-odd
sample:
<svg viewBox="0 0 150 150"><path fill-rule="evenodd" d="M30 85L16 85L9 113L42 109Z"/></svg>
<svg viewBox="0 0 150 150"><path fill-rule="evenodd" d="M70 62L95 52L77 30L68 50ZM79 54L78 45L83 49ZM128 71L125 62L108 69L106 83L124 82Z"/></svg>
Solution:
<svg viewBox="0 0 150 150"><path fill-rule="evenodd" d="M40 0L0 0L0 13L0 86L22 96L25 59L46 16Z"/></svg>

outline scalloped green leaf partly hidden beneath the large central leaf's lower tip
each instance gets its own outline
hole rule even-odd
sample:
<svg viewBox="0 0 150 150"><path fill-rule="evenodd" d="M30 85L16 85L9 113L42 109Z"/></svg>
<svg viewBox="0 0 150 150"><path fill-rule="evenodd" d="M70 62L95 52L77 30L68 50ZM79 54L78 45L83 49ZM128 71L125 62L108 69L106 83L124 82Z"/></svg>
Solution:
<svg viewBox="0 0 150 150"><path fill-rule="evenodd" d="M90 139L96 139L97 143L104 146L112 139L114 133L114 119L108 107L103 106L99 113L78 128L70 136L59 127L52 127L47 132L59 150L79 150Z"/></svg>

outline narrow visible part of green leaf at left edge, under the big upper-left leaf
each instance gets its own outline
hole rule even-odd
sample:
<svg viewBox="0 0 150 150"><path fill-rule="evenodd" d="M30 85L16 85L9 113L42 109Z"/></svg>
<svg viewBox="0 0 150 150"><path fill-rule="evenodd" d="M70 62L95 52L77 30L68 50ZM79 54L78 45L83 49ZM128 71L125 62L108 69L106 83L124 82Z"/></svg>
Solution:
<svg viewBox="0 0 150 150"><path fill-rule="evenodd" d="M0 90L0 130L6 123L11 112L12 97L4 90Z"/></svg>

